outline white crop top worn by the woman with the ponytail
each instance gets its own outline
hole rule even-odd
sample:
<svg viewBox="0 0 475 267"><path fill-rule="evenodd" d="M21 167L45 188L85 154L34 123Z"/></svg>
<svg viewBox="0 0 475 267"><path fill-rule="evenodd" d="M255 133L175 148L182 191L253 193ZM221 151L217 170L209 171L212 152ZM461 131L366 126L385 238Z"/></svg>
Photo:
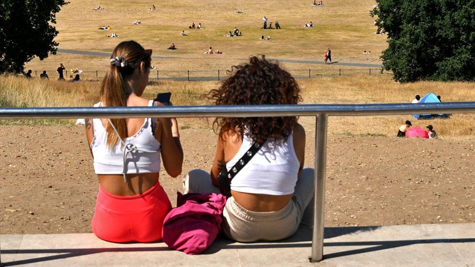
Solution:
<svg viewBox="0 0 475 267"><path fill-rule="evenodd" d="M94 105L99 107L100 103ZM148 106L153 105L150 100ZM92 119L94 137L91 142L96 174L137 174L160 172L160 142L152 133L151 119L146 118L140 130L109 149L107 132L101 119ZM114 133L116 134L116 133ZM125 145L124 145L125 144ZM124 175L125 177L125 175Z"/></svg>

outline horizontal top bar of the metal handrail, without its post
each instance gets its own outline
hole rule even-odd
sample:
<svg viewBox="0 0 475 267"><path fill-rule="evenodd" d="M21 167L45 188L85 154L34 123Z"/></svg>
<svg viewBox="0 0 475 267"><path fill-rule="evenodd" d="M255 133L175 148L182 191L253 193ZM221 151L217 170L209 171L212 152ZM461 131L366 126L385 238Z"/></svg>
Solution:
<svg viewBox="0 0 475 267"><path fill-rule="evenodd" d="M76 119L144 117L284 117L368 116L401 114L471 113L475 102L431 104L260 105L177 107L3 107L0 119Z"/></svg>

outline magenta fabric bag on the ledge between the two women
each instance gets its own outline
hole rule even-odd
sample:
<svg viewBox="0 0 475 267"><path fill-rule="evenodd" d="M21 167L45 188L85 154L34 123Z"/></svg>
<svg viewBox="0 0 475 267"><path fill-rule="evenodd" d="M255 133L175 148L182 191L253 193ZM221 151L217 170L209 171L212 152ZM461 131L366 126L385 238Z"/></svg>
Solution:
<svg viewBox="0 0 475 267"><path fill-rule="evenodd" d="M163 241L170 249L201 253L218 236L226 197L215 193L177 195L177 207L164 220Z"/></svg>

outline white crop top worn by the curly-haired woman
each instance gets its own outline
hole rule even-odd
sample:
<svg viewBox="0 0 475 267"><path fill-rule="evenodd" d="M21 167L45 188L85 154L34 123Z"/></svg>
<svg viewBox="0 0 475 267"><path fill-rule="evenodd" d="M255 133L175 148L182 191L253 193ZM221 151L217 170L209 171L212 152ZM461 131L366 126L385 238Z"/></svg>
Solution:
<svg viewBox="0 0 475 267"><path fill-rule="evenodd" d="M252 141L244 135L236 156L228 163L228 171L251 147ZM270 145L268 141L231 180L231 190L251 194L290 195L297 183L300 162L293 148L292 134L286 141Z"/></svg>

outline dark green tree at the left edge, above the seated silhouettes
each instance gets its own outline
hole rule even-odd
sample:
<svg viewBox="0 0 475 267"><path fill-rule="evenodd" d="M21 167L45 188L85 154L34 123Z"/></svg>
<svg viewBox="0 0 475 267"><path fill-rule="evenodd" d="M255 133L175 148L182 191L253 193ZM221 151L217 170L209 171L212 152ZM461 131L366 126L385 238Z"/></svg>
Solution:
<svg viewBox="0 0 475 267"><path fill-rule="evenodd" d="M56 13L64 0L0 0L0 73L19 73L35 56L56 53Z"/></svg>

